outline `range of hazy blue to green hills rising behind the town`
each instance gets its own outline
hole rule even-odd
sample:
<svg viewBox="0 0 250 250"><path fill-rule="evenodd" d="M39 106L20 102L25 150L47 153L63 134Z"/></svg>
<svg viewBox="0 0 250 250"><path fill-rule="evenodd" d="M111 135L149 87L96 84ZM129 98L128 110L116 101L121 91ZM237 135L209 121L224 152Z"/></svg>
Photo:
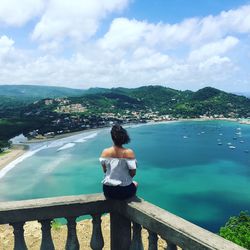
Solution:
<svg viewBox="0 0 250 250"><path fill-rule="evenodd" d="M42 99L68 98L72 104L80 103L97 113L129 110L153 110L177 117L200 115L250 116L250 99L212 87L196 92L149 85L137 88L71 89L54 86L2 85L0 86L0 114L3 109L16 109ZM16 105L13 105L15 103ZM43 106L44 104L42 104ZM39 104L38 104L39 105ZM53 108L57 104L54 103ZM37 106L37 105L36 105ZM32 108L32 105L31 107ZM51 107L46 107L46 109ZM29 109L29 107L27 107Z"/></svg>

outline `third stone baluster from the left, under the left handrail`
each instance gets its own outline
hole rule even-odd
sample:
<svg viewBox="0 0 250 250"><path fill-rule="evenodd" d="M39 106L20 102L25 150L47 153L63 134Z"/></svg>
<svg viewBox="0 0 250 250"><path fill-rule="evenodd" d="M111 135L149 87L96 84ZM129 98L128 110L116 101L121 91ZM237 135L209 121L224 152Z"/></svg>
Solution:
<svg viewBox="0 0 250 250"><path fill-rule="evenodd" d="M76 234L76 218L77 217L68 217L66 218L68 223L68 236L66 242L66 250L78 250L79 242Z"/></svg>

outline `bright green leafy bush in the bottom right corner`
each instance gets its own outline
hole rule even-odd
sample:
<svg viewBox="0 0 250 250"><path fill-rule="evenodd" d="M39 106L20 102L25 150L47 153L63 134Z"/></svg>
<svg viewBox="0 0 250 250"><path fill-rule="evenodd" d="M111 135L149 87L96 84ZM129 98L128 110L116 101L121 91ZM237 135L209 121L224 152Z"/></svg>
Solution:
<svg viewBox="0 0 250 250"><path fill-rule="evenodd" d="M238 216L230 217L224 227L220 228L220 236L250 249L250 215L241 212Z"/></svg>

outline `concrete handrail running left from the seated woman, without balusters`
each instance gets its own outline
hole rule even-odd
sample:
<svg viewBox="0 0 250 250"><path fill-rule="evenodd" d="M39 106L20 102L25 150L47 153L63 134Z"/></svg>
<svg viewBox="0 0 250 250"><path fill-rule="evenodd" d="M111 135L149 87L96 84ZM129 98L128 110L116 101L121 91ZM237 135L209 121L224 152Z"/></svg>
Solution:
<svg viewBox="0 0 250 250"><path fill-rule="evenodd" d="M102 194L0 202L0 224L108 213L111 203Z"/></svg>

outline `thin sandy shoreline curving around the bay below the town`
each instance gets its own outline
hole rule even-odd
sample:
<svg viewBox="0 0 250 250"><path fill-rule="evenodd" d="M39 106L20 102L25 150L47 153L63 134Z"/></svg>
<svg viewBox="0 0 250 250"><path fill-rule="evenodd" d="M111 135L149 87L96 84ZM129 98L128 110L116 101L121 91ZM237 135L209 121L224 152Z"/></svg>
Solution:
<svg viewBox="0 0 250 250"><path fill-rule="evenodd" d="M163 121L150 121L146 123L128 123L123 124L123 126L126 127L136 127L136 126L145 126L145 125L157 125L157 124L168 124L172 122L191 122L191 121L197 121L197 122L205 122L205 121L229 121L229 122L237 122L240 124L248 124L250 123L242 123L239 119L234 118L191 118L191 119L176 119L176 120L163 120ZM23 156L25 153L27 153L30 149L30 146L33 144L39 144L44 142L53 142L59 139L68 138L71 136L76 136L84 133L91 133L96 131L102 131L102 130L110 129L110 127L101 127L101 128L93 128L93 129L85 129L81 131L75 131L75 132L69 132L65 134L55 135L51 138L44 138L44 139L31 139L28 140L25 143L22 144L13 144L10 148L10 152L7 152L4 155L0 155L0 173L3 171L8 165L10 165L12 162Z"/></svg>

